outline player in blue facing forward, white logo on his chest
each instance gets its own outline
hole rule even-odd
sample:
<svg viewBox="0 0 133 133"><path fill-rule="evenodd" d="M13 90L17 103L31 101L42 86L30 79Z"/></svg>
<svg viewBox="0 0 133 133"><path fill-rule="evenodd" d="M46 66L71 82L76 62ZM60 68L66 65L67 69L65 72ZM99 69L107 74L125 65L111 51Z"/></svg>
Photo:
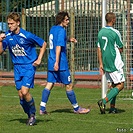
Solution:
<svg viewBox="0 0 133 133"><path fill-rule="evenodd" d="M46 42L36 35L20 28L20 15L16 12L7 16L9 31L0 34L0 54L8 47L14 64L14 80L20 105L28 115L27 125L34 125L36 108L30 88L34 87L36 67L41 63L46 50ZM39 55L36 45L40 47Z"/></svg>

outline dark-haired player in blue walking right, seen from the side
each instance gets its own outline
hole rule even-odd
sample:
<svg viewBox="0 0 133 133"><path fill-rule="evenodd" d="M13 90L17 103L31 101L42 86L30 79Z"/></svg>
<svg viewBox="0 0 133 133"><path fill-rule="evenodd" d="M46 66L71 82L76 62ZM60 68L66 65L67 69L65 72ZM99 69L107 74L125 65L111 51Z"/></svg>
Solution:
<svg viewBox="0 0 133 133"><path fill-rule="evenodd" d="M55 25L50 29L47 85L42 91L40 115L47 114L46 103L48 101L50 91L56 82L63 83L66 86L66 95L74 108L74 113L86 114L90 111L90 109L79 107L73 91L66 55L66 45L67 41L75 43L77 40L75 38L67 39L65 28L68 24L69 15L67 12L62 11L56 15Z"/></svg>

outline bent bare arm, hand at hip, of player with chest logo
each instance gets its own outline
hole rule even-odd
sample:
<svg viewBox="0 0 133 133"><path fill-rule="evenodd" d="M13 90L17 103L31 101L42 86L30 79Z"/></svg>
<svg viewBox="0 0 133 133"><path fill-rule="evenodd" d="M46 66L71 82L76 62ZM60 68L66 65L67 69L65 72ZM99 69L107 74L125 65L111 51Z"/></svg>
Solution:
<svg viewBox="0 0 133 133"><path fill-rule="evenodd" d="M33 63L34 66L38 66L41 64L41 61L42 61L42 58L43 58L43 55L46 51L46 47L47 47L47 43L44 42L42 47L40 48L40 52L39 52L39 55L38 55L38 58L37 60Z"/></svg>

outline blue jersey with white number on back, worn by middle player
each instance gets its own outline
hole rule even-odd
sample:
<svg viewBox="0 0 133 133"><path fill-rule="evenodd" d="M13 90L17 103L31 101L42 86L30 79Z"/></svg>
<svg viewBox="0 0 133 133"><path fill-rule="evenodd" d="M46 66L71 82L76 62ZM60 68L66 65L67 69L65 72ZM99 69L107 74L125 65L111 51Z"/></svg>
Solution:
<svg viewBox="0 0 133 133"><path fill-rule="evenodd" d="M49 35L50 52L48 57L48 70L54 71L54 64L56 61L56 46L61 46L59 71L68 69L66 44L67 44L66 30L59 25L53 26L50 29L50 35Z"/></svg>

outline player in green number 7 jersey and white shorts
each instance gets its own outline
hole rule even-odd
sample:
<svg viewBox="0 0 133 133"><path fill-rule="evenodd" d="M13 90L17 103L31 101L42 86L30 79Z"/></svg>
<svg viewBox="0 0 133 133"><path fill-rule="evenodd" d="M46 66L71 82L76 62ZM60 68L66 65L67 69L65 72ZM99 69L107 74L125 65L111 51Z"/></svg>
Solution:
<svg viewBox="0 0 133 133"><path fill-rule="evenodd" d="M120 32L113 28L116 22L114 13L105 16L107 25L98 33L97 51L100 73L105 73L110 91L105 98L98 101L101 114L105 114L105 105L110 101L109 113L117 113L115 108L116 96L124 88L124 73L121 52L123 43Z"/></svg>

